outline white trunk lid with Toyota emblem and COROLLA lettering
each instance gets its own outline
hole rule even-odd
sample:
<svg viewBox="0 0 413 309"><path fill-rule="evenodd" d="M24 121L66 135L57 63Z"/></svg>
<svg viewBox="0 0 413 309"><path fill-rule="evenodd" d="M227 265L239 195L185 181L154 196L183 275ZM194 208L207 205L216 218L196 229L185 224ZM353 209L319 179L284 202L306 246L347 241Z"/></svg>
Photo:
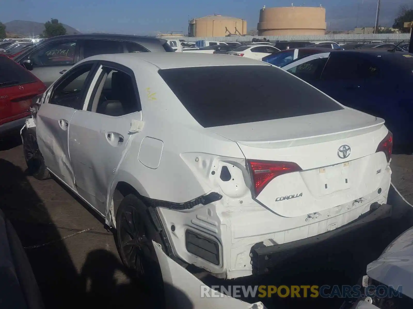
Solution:
<svg viewBox="0 0 413 309"><path fill-rule="evenodd" d="M209 128L235 141L245 158L294 162L301 168L273 178L256 199L275 213L296 217L377 190L385 173L384 120L345 108L313 115ZM345 158L339 148L351 148ZM252 171L250 171L252 173ZM254 186L253 186L254 187Z"/></svg>

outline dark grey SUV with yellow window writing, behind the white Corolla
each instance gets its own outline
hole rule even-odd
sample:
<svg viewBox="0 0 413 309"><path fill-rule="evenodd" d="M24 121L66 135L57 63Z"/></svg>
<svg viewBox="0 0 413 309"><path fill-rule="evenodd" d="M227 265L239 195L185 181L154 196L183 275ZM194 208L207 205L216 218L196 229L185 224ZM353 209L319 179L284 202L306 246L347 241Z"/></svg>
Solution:
<svg viewBox="0 0 413 309"><path fill-rule="evenodd" d="M59 35L14 58L48 87L76 62L98 54L174 52L166 40L120 34Z"/></svg>

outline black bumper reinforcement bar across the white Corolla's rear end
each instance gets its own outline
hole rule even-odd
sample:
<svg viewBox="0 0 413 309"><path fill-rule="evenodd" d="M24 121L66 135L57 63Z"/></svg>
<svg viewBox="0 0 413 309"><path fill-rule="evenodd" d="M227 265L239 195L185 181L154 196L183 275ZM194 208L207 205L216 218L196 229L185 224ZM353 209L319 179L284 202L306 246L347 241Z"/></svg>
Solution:
<svg viewBox="0 0 413 309"><path fill-rule="evenodd" d="M389 218L392 215L392 206L387 204L374 203L370 207L370 212L360 216L356 220L349 222L342 227L334 229L323 234L312 236L297 241L291 241L280 245L265 246L257 243L251 248L251 262L253 274L266 274L269 270L280 265L281 262L296 255L301 250L307 249L318 243L324 243L343 236L347 233L354 232L362 227L374 225L374 222L380 219Z"/></svg>

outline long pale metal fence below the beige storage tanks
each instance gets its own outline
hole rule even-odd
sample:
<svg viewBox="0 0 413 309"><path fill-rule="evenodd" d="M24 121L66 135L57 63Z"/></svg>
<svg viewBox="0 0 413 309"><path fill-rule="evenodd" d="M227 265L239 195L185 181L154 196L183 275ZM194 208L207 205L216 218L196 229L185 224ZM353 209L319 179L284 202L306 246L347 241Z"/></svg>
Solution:
<svg viewBox="0 0 413 309"><path fill-rule="evenodd" d="M326 35L268 35L268 36L252 36L246 35L242 37L185 37L189 42L196 42L197 40L208 41L236 41L236 42L251 42L253 38L273 41L334 41L338 43L346 42L400 42L403 40L410 40L410 33L380 33L380 34L326 34Z"/></svg>

